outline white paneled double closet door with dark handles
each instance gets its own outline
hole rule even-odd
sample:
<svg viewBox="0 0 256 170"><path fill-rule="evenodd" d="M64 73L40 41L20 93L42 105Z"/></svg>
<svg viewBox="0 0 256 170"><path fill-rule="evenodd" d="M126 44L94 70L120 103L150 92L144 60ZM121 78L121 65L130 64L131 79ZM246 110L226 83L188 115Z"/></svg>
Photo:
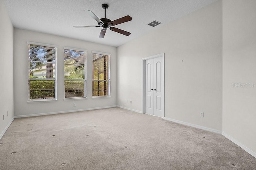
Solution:
<svg viewBox="0 0 256 170"><path fill-rule="evenodd" d="M145 112L163 118L164 57L147 59L145 64Z"/></svg>

